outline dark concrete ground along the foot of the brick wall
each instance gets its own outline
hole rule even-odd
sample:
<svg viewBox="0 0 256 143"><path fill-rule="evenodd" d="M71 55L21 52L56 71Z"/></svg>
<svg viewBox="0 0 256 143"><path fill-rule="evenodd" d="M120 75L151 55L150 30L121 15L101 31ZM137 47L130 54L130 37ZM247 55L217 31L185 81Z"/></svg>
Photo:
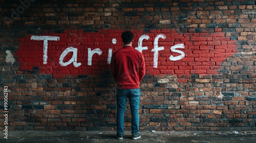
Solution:
<svg viewBox="0 0 256 143"><path fill-rule="evenodd" d="M256 142L256 131L142 131L141 138L133 140L131 132L125 131L123 140L118 140L115 131L9 131L8 139L0 135L0 142Z"/></svg>

